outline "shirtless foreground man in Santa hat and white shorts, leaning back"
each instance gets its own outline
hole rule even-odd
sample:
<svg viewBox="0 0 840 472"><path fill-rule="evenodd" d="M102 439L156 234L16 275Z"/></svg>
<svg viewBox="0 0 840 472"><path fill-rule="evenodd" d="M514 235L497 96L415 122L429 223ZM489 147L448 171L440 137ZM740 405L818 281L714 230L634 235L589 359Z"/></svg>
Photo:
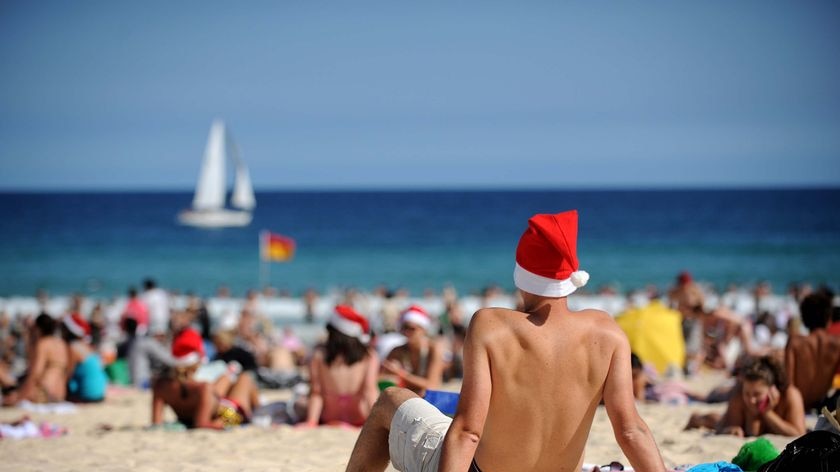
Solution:
<svg viewBox="0 0 840 472"><path fill-rule="evenodd" d="M454 419L390 388L348 471L385 470L389 455L395 468L412 472L579 471L602 398L635 469L665 470L636 411L626 336L608 314L567 306L566 296L589 278L578 270L576 239L576 211L531 218L514 269L523 311L486 308L473 316Z"/></svg>

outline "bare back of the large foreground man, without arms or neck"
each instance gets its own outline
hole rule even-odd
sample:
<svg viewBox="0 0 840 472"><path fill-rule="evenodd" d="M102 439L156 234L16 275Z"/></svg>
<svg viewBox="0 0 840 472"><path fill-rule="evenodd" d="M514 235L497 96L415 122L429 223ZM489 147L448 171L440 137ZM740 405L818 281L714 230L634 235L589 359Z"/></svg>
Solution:
<svg viewBox="0 0 840 472"><path fill-rule="evenodd" d="M476 451L483 470L580 470L617 329L604 312L548 305L476 314L467 342L486 353L494 386Z"/></svg>

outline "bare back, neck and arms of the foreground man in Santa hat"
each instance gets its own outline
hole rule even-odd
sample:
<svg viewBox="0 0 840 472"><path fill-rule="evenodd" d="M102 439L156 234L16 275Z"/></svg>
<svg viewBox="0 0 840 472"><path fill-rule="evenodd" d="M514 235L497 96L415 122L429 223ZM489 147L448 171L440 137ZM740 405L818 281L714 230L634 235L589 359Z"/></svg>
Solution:
<svg viewBox="0 0 840 472"><path fill-rule="evenodd" d="M482 471L579 471L602 397L614 424L619 417L630 418L649 436L644 422L631 414L630 349L612 318L598 310L569 311L565 298L523 297L529 313L480 310L466 338L465 369L476 375L464 379L464 408L459 407L450 432L483 422L475 453ZM488 395L484 390L491 384ZM641 457L630 451L627 455L640 467L649 461L643 470L656 470L662 460L652 439L649 443L646 461L639 463Z"/></svg>

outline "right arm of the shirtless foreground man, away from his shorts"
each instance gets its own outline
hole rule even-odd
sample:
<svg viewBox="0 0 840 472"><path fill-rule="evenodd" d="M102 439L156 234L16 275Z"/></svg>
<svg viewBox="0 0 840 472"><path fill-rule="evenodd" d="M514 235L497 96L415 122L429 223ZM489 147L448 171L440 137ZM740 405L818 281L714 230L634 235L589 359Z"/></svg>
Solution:
<svg viewBox="0 0 840 472"><path fill-rule="evenodd" d="M624 333L615 333L615 336L618 342L604 384L604 404L615 439L636 470L664 471L665 463L653 435L636 410L630 344Z"/></svg>

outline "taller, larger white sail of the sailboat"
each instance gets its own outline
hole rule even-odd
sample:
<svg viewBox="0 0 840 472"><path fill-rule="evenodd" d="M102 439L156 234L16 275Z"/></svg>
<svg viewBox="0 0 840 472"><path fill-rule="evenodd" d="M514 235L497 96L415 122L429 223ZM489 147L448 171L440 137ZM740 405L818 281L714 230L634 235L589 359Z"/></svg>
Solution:
<svg viewBox="0 0 840 472"><path fill-rule="evenodd" d="M216 120L207 137L204 162L195 188L193 208L196 210L215 210L225 206L225 147L225 124Z"/></svg>

